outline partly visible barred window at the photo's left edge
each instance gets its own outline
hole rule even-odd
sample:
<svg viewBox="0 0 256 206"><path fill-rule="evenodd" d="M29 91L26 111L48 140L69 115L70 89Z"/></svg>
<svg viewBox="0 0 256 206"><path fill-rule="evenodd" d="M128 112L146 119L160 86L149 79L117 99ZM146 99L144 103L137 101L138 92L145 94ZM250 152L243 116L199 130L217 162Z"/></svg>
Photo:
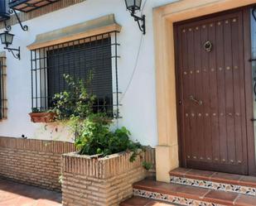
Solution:
<svg viewBox="0 0 256 206"><path fill-rule="evenodd" d="M7 118L6 57L0 57L0 119Z"/></svg>

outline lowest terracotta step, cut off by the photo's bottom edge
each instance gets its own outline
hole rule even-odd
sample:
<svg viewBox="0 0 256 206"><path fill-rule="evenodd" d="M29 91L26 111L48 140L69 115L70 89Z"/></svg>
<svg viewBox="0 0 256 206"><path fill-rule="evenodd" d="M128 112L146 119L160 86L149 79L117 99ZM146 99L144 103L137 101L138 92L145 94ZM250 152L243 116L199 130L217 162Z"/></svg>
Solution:
<svg viewBox="0 0 256 206"><path fill-rule="evenodd" d="M177 206L177 204L166 204L152 199L133 197L121 203L120 206Z"/></svg>

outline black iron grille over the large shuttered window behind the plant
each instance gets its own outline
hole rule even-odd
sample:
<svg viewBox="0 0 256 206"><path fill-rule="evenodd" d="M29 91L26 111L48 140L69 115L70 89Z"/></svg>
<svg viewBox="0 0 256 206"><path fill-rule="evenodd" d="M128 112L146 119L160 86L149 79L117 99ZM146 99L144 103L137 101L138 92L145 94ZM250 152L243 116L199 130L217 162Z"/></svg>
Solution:
<svg viewBox="0 0 256 206"><path fill-rule="evenodd" d="M69 90L64 74L89 79L95 96L94 112L118 114L117 31L31 50L32 109L46 111L56 93Z"/></svg>

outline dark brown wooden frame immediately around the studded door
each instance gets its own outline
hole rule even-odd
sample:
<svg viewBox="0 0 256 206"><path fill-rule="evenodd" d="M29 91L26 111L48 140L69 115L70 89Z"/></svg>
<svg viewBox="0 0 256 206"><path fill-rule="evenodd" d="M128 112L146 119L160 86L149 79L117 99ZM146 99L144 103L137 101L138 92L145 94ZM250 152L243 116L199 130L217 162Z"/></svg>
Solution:
<svg viewBox="0 0 256 206"><path fill-rule="evenodd" d="M229 14L235 13L235 12L242 12L243 15L243 36L244 36L244 97L245 97L245 123L246 123L246 133L245 133L245 137L246 138L246 154L247 154L247 162L246 162L246 174L247 175L256 175L254 174L254 172L249 172L249 168L255 168L255 156L254 156L254 147L250 148L252 146L254 146L254 133L251 134L250 132L254 132L254 127L251 128L251 126L254 125L253 122L250 121L250 119L253 117L253 85L252 84L246 84L247 82L252 83L252 66L251 63L249 62L249 59L251 59L251 42L250 42L250 38L251 38L251 34L250 34L250 12L249 9L250 7L252 7L252 5L250 6L246 6L246 7L239 7L239 8L235 8L235 9L231 9L225 12L217 12L214 14L210 14L210 15L206 15L203 17L196 17L196 18L192 18L190 20L185 20L182 22L175 22L173 24L173 32L174 32L174 49L175 49L175 74L176 74L176 111L177 111L177 127L178 127L178 144L179 144L179 161L180 161L180 166L181 167L187 167L187 162L186 162L186 156L185 156L185 139L183 137L183 127L184 127L184 122L183 122L183 113L182 113L182 108L180 106L180 100L182 99L181 95L182 95L182 86L181 86L181 72L179 70L179 61L180 61L180 52L179 52L179 36L178 36L178 29L179 26L181 25L186 25L186 24L190 24L193 22L200 22L200 21L204 21L205 19L210 19L210 18L217 18L220 16L227 16ZM249 31L249 32L248 32ZM246 37L247 36L247 37ZM249 52L246 52L249 51ZM249 62L249 64L247 64ZM248 81L248 78L250 78L251 80ZM251 95L249 95L251 93ZM248 131L248 132L247 132ZM253 138L249 138L253 137ZM243 146L244 147L244 146ZM246 154L244 154L246 156ZM254 160L254 161L252 161ZM198 163L197 165L205 165L205 163ZM189 167L189 166L188 166Z"/></svg>

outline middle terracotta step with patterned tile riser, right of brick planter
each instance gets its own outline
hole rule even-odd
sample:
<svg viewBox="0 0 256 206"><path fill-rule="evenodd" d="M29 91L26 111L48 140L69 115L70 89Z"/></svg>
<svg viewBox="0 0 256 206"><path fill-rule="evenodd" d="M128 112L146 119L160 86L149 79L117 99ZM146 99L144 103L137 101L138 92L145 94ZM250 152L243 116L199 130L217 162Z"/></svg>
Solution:
<svg viewBox="0 0 256 206"><path fill-rule="evenodd" d="M167 204L193 206L256 206L256 197L181 184L142 180L133 184L133 195L164 201ZM139 204L138 204L139 205Z"/></svg>

